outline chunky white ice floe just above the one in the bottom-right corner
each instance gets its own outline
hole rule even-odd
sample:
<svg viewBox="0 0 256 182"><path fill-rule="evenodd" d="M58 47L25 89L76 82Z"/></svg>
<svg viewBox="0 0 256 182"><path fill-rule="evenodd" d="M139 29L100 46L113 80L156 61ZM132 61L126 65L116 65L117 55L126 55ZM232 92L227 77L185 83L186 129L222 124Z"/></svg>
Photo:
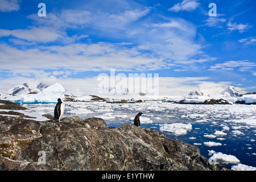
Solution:
<svg viewBox="0 0 256 182"><path fill-rule="evenodd" d="M212 152L213 153L213 152ZM210 153L209 153L210 154ZM214 153L210 158L209 158L209 163L210 164L219 164L219 163L225 163L225 164L238 164L240 163L240 160L236 158L234 155L227 155L227 154L222 154L222 152Z"/></svg>

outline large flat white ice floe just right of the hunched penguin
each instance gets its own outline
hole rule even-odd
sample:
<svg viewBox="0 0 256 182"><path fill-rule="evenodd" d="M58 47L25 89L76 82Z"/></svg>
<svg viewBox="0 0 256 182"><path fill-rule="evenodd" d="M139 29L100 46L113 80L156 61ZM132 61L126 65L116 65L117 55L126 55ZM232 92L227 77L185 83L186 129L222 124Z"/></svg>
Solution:
<svg viewBox="0 0 256 182"><path fill-rule="evenodd" d="M188 123L188 124L172 123L172 124L164 124L159 126L160 126L160 131L174 133L175 135L184 135L184 134L187 134L187 131L192 130L191 123Z"/></svg>

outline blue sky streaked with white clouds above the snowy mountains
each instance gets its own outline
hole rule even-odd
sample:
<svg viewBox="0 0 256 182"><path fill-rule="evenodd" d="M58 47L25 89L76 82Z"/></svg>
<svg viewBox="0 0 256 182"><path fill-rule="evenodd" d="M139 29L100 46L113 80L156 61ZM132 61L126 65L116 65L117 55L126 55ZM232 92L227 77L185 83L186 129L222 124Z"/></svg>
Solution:
<svg viewBox="0 0 256 182"><path fill-rule="evenodd" d="M255 15L254 0L0 0L0 92L41 81L93 93L110 69L158 73L163 94L255 92Z"/></svg>

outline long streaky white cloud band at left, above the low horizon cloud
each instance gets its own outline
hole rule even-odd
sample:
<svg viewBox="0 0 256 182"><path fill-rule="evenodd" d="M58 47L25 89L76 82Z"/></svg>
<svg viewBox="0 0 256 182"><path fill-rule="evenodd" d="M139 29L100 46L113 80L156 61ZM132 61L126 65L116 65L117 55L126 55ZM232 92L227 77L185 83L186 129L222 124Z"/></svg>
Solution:
<svg viewBox="0 0 256 182"><path fill-rule="evenodd" d="M0 45L1 69L75 69L101 71L110 68L141 70L165 67L166 63L155 57L142 55L136 48L110 43L69 44L68 46L40 46L19 50L6 44Z"/></svg>

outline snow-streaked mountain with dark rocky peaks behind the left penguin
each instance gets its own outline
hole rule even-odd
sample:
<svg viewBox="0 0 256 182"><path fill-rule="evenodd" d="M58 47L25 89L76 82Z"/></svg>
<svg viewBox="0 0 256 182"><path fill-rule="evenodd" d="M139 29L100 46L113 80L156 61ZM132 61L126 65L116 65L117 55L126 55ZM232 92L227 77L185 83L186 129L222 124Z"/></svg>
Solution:
<svg viewBox="0 0 256 182"><path fill-rule="evenodd" d="M22 94L39 93L45 88L47 88L47 86L42 84L41 82L30 85L28 85L27 83L23 83L22 85L17 85L9 89L7 91L7 94L19 96Z"/></svg>

